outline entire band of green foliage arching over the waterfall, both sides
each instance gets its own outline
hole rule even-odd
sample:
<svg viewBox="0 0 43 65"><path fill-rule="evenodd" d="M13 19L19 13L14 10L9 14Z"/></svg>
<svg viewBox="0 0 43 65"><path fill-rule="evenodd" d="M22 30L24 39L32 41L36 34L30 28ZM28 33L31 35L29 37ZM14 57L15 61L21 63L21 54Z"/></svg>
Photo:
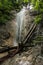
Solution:
<svg viewBox="0 0 43 65"><path fill-rule="evenodd" d="M19 11L23 4L27 5L31 3L34 5L34 10L37 10L41 14L37 15L35 22L39 22L42 19L43 13L43 1L42 0L0 0L0 23L5 23L12 19L12 10Z"/></svg>

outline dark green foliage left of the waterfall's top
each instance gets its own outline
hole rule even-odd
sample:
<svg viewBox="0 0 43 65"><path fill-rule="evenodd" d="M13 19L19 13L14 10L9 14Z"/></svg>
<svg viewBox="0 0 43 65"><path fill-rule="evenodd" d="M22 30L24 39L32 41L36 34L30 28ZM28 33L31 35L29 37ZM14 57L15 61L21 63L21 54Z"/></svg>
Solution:
<svg viewBox="0 0 43 65"><path fill-rule="evenodd" d="M6 23L12 19L11 10L19 11L22 8L22 3L28 0L0 0L0 23Z"/></svg>

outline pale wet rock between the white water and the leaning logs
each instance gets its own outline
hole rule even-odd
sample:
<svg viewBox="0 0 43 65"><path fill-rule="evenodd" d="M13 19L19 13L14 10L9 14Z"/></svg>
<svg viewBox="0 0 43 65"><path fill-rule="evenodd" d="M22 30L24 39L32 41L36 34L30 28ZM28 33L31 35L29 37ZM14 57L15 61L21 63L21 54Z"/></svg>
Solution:
<svg viewBox="0 0 43 65"><path fill-rule="evenodd" d="M29 28L31 27L33 21L33 17L30 16L29 10L25 11L24 18L23 18L23 25L22 25L22 39L26 36L28 33Z"/></svg>

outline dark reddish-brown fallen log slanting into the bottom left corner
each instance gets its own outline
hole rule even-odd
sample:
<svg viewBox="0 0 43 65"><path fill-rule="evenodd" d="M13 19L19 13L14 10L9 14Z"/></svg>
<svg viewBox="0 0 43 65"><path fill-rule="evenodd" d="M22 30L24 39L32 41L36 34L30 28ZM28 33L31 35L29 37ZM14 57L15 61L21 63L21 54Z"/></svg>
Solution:
<svg viewBox="0 0 43 65"><path fill-rule="evenodd" d="M3 56L2 58L0 58L0 63L4 62L8 58L11 58L11 57L15 56L19 51L20 51L20 49L17 48L15 50L13 50L12 52L6 53L5 56Z"/></svg>

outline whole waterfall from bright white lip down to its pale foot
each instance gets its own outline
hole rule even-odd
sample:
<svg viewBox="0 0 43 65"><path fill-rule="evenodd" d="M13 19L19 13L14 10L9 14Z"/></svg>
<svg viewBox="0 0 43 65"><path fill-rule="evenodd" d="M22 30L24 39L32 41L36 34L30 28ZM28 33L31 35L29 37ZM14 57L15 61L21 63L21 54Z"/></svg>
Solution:
<svg viewBox="0 0 43 65"><path fill-rule="evenodd" d="M14 42L14 46L18 46L18 43L21 42L22 40L22 29L24 24L24 20L25 20L25 14L27 13L27 9L28 7L30 7L30 9L32 9L32 6L27 5L27 8L25 6L23 6L23 8L21 9L20 12L17 13L16 15L16 37L15 37L15 42ZM28 15L28 14L27 14ZM29 15L28 15L29 16Z"/></svg>

